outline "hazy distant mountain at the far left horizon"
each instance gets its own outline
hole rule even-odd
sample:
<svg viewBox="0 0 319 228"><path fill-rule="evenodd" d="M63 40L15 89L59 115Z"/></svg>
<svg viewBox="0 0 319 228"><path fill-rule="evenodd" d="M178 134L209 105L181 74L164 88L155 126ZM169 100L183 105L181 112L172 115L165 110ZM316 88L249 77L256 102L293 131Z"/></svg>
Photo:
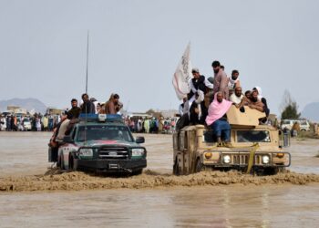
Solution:
<svg viewBox="0 0 319 228"><path fill-rule="evenodd" d="M19 106L22 109L27 109L28 111L35 109L36 112L45 113L46 105L36 99L36 98L12 98L7 100L0 100L0 110L6 110L7 106Z"/></svg>

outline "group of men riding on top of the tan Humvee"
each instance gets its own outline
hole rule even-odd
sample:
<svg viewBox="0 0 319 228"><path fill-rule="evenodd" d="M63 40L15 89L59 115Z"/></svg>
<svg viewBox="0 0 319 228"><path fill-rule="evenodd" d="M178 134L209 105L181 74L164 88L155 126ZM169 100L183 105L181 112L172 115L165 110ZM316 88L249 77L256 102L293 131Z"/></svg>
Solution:
<svg viewBox="0 0 319 228"><path fill-rule="evenodd" d="M211 128L215 140L228 143L230 141L231 126L226 113L235 106L242 112L245 107L257 109L265 113L260 123L265 123L270 110L266 98L262 97L262 89L255 87L242 92L240 72L232 70L231 77L227 77L224 67L219 61L211 64L214 77L205 78L199 68L192 68L193 78L190 80L190 93L180 104L180 120L177 130L187 125L203 124Z"/></svg>

